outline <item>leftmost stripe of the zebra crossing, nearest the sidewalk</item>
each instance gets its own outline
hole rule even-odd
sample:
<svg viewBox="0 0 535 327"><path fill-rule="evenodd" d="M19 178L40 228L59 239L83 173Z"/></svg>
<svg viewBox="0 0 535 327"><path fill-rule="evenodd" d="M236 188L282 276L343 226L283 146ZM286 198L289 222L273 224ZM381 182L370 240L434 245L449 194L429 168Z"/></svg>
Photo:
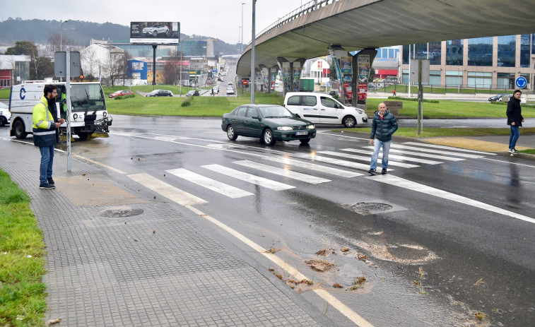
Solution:
<svg viewBox="0 0 535 327"><path fill-rule="evenodd" d="M171 201L175 201L180 206L193 206L195 204L208 203L208 201L198 198L193 194L189 194L186 191L177 189L175 186L171 186L165 182L160 181L149 174L132 174L128 175L131 179L145 186L148 189L155 191L158 194L169 198Z"/></svg>

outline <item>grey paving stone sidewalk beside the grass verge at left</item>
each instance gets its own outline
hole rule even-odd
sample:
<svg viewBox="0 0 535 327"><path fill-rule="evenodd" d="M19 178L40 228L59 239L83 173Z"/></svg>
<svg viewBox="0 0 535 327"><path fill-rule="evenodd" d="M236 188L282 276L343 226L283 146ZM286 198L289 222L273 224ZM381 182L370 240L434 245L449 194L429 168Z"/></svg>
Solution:
<svg viewBox="0 0 535 327"><path fill-rule="evenodd" d="M39 189L39 150L0 147L0 168L28 193L44 234L57 326L331 325L180 208L141 198L98 165L73 159L67 172L58 152L57 189Z"/></svg>

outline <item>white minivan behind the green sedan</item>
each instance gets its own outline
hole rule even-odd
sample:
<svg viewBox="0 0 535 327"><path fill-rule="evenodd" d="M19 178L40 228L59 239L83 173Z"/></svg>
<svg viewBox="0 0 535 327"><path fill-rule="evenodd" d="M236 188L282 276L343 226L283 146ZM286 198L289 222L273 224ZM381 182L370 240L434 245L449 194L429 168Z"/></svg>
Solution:
<svg viewBox="0 0 535 327"><path fill-rule="evenodd" d="M286 93L284 107L315 124L343 124L346 127L355 127L368 122L368 116L363 109L342 105L339 100L324 93Z"/></svg>

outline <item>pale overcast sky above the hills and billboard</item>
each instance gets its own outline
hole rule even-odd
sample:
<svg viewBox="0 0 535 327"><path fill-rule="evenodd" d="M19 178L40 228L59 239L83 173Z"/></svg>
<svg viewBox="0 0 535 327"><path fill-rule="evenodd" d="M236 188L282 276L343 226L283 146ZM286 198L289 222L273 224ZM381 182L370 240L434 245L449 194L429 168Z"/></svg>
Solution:
<svg viewBox="0 0 535 327"><path fill-rule="evenodd" d="M257 0L256 33L308 2ZM205 35L234 44L241 34L242 3L245 3L243 40L247 44L252 36L252 0L0 0L0 20L8 17L25 20L72 19L125 26L130 26L131 21L178 21L180 32L186 35ZM124 38L128 39L129 35Z"/></svg>

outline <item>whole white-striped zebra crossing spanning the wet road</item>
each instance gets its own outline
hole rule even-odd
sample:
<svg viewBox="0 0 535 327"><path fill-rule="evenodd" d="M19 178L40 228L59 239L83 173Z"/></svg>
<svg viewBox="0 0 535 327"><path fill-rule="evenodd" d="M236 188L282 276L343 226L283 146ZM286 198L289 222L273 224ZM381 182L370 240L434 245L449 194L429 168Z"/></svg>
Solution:
<svg viewBox="0 0 535 327"><path fill-rule="evenodd" d="M225 149L221 145L208 145L208 147ZM225 165L200 165L192 170L174 168L165 170L165 172L180 179L182 181L180 185L184 189L196 189L192 185L195 184L221 196L242 198L254 196L254 193L242 189L247 187L244 187L244 182L245 184L253 184L271 191L286 191L296 187L303 187L305 184L314 185L331 182L331 179L325 178L328 177L326 175L331 175L338 179L363 176L370 168L370 157L372 155L370 148L373 147L341 148L338 151L317 150L310 153L271 153L270 155L259 155L253 160L235 160ZM416 142L396 143L392 144L390 148L389 159L391 160L389 160L389 166L394 166L396 169L417 169L422 165L441 165L448 161L477 159L485 155L494 154L452 148L445 145ZM380 157L382 157L381 153ZM351 170L347 168L351 168ZM354 170L360 172L355 172ZM393 170L389 169L389 171ZM252 172L261 172L264 176L269 177L260 177ZM190 194L188 191L178 189L155 177L151 177L150 174L132 174L129 177L184 206L207 202ZM278 182L271 179L271 177L274 179L283 177L285 180L284 182ZM225 182L221 182L222 180ZM228 182L229 180L235 182Z"/></svg>

